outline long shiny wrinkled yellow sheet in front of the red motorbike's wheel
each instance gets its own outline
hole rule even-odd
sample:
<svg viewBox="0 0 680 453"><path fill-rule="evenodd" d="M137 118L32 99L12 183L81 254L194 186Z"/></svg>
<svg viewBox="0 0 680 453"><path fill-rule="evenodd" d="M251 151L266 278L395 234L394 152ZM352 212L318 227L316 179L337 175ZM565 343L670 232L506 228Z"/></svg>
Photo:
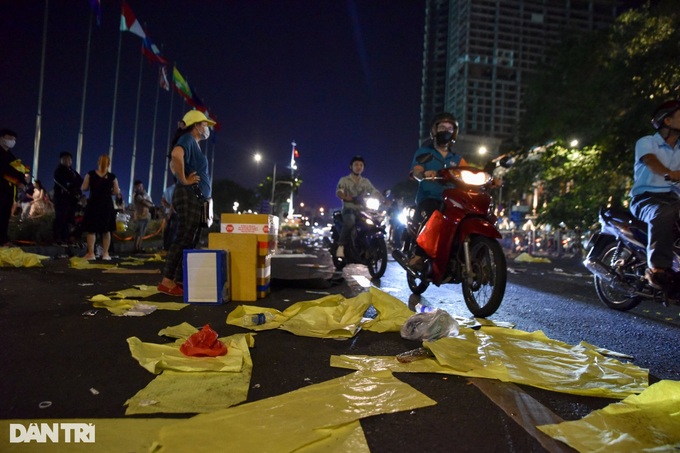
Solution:
<svg viewBox="0 0 680 453"><path fill-rule="evenodd" d="M585 344L571 346L552 340L540 331L461 328L457 337L425 342L423 346L434 353L435 359L401 364L394 357L333 356L331 365L491 378L604 398L625 398L648 385L648 370L605 357Z"/></svg>

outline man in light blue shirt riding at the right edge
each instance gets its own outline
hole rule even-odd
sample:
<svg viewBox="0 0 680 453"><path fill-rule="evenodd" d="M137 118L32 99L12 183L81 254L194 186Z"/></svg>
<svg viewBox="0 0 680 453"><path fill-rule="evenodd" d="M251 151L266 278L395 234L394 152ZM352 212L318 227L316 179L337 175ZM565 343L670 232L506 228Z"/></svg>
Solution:
<svg viewBox="0 0 680 453"><path fill-rule="evenodd" d="M680 180L680 101L667 101L657 107L652 126L657 133L635 144L630 210L647 222L649 268L645 277L651 286L663 289L675 277L673 243L680 197L671 190L671 181Z"/></svg>

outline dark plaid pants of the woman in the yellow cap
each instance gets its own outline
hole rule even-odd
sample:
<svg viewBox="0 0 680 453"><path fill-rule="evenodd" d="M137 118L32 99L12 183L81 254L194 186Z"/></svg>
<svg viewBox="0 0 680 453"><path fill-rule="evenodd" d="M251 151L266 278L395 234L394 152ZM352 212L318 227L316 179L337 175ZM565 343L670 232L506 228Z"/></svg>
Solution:
<svg viewBox="0 0 680 453"><path fill-rule="evenodd" d="M177 184L172 195L172 206L177 212L179 226L177 238L170 244L165 259L163 276L175 282L184 278L184 250L196 248L201 236L203 200L196 196L192 186Z"/></svg>

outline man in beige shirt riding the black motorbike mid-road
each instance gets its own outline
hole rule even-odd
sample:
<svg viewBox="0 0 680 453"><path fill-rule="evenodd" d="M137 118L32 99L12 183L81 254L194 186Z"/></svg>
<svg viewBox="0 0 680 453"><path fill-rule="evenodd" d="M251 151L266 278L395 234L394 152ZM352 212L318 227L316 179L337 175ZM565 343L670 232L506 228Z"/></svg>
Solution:
<svg viewBox="0 0 680 453"><path fill-rule="evenodd" d="M350 243L352 229L356 223L356 211L361 209L359 198L371 194L378 198L381 202L384 201L382 194L373 187L371 181L361 176L364 171L366 163L361 156L354 156L349 162L349 168L352 172L340 178L338 181L338 188L335 194L342 200L342 231L338 239L338 250L336 256L338 258L345 257L345 246Z"/></svg>

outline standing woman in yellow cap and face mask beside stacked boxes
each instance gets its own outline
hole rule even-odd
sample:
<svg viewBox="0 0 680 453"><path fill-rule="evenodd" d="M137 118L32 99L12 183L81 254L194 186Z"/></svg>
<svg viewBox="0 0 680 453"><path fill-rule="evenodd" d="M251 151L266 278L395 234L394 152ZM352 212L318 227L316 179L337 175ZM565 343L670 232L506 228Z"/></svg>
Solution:
<svg viewBox="0 0 680 453"><path fill-rule="evenodd" d="M211 196L208 159L198 142L210 137L215 122L203 112L191 110L182 119L170 152L170 170L175 175L172 206L179 217L177 239L170 245L158 291L169 296L182 296L183 251L195 248L201 234L203 200Z"/></svg>

